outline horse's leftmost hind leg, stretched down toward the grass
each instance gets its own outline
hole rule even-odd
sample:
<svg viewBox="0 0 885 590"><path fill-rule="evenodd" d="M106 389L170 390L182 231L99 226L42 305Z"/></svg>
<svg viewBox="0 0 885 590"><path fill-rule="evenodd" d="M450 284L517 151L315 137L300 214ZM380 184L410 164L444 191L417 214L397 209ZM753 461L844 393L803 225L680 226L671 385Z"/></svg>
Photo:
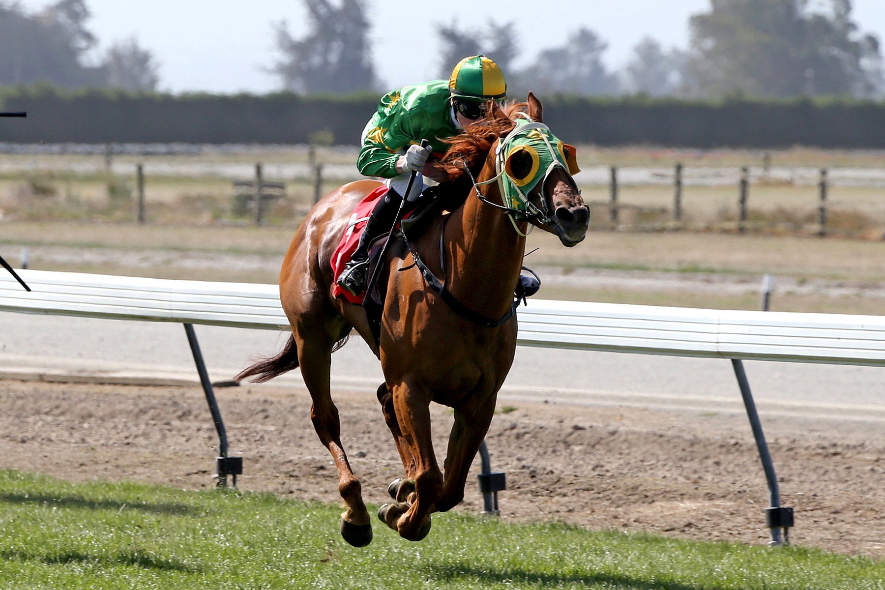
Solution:
<svg viewBox="0 0 885 590"><path fill-rule="evenodd" d="M312 333L308 330L305 333ZM313 332L316 333L316 332ZM329 378L332 366L332 344L299 338L298 364L304 384L311 392L311 421L338 469L338 492L347 510L342 513L341 534L354 547L365 547L372 542L372 520L363 502L362 487L353 474L347 454L341 444L341 421L338 408L332 401Z"/></svg>

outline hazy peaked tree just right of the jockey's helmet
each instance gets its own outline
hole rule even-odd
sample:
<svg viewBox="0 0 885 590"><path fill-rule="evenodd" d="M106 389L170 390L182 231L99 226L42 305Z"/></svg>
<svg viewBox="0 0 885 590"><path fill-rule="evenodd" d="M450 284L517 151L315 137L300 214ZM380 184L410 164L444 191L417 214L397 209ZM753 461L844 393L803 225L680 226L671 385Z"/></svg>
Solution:
<svg viewBox="0 0 885 590"><path fill-rule="evenodd" d="M606 49L608 44L596 33L581 27L564 46L543 50L533 65L519 73L520 83L535 92L616 94L618 79L602 61Z"/></svg>

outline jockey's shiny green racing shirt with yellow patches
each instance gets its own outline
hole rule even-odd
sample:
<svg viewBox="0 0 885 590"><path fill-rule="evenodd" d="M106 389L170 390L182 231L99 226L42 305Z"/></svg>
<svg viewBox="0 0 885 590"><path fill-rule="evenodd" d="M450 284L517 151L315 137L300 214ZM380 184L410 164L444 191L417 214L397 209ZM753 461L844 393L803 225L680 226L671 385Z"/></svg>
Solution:
<svg viewBox="0 0 885 590"><path fill-rule="evenodd" d="M393 178L400 150L422 139L435 155L449 147L442 140L458 134L451 119L449 80L404 86L381 97L378 111L363 131L357 168L360 174Z"/></svg>

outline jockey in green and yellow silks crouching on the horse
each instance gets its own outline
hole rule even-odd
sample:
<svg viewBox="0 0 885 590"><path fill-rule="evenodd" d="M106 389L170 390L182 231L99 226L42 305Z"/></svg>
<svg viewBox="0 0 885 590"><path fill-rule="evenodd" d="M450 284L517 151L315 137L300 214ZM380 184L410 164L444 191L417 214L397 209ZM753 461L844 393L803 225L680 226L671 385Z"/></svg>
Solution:
<svg viewBox="0 0 885 590"><path fill-rule="evenodd" d="M443 140L483 117L489 101L503 101L506 93L501 68L489 57L473 56L459 61L449 80L404 86L381 97L363 130L357 167L361 174L385 179L389 190L375 205L357 250L338 277L341 287L354 295L366 287L369 244L390 231L404 196L404 210L419 206L426 188L422 172L431 178L434 172L427 160L441 157L448 148ZM430 149L420 146L422 139L430 142ZM404 195L412 172L412 191Z"/></svg>

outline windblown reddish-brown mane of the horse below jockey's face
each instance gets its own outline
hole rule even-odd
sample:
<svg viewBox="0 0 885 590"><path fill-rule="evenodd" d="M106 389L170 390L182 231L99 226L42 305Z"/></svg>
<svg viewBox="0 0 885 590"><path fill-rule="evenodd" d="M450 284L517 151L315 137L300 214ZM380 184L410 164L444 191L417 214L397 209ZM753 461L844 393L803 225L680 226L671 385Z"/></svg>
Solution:
<svg viewBox="0 0 885 590"><path fill-rule="evenodd" d="M466 164L475 175L479 172L477 167L489 157L489 149L495 140L509 134L516 126L513 122L516 113L527 110L528 103L511 101L504 107L491 103L488 117L471 123L461 133L444 140L450 146L435 164L437 170L443 172L449 181L459 180L465 175Z"/></svg>

